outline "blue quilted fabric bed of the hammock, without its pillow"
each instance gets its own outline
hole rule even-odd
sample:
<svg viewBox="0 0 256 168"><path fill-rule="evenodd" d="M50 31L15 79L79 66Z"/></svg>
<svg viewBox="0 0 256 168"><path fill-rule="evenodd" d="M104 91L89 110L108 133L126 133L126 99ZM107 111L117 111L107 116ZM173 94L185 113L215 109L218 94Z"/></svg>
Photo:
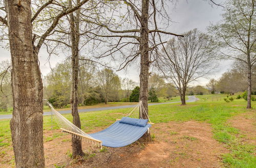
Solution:
<svg viewBox="0 0 256 168"><path fill-rule="evenodd" d="M132 118L130 118L132 119ZM136 119L143 120L143 119ZM144 122L144 121L142 121ZM121 123L116 121L114 124L108 128L89 134L95 139L102 141L102 145L105 147L124 147L137 141L144 133L146 133L147 128L150 128L151 124L146 124L143 126L136 126L132 124Z"/></svg>

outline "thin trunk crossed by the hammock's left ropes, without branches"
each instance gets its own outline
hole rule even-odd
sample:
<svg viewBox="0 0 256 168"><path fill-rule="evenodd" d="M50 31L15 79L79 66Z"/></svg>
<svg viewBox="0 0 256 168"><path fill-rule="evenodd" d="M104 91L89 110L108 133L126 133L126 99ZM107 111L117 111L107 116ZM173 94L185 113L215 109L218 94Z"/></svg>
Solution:
<svg viewBox="0 0 256 168"><path fill-rule="evenodd" d="M71 0L69 5L71 6ZM79 1L77 1L79 3ZM71 44L72 44L72 85L71 85L71 96L70 105L72 109L73 124L78 128L81 128L80 117L78 113L78 71L79 71L79 13L80 10L76 11L76 18L74 19L73 13L70 14L71 24ZM73 157L84 155L82 151L82 143L80 138L72 136L72 150Z"/></svg>

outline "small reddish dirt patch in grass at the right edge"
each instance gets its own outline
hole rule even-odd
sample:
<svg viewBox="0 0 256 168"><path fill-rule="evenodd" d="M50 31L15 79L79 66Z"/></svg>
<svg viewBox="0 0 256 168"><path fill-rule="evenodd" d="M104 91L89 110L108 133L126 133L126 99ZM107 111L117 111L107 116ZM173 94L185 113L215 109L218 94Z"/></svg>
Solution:
<svg viewBox="0 0 256 168"><path fill-rule="evenodd" d="M255 111L243 113L233 117L229 123L240 130L240 134L245 135L243 141L256 145L256 114Z"/></svg>

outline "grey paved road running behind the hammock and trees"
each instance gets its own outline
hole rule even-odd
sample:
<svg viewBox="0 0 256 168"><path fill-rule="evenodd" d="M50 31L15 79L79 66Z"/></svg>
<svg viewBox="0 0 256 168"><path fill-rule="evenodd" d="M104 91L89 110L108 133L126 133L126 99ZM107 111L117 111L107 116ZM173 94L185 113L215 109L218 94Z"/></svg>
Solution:
<svg viewBox="0 0 256 168"><path fill-rule="evenodd" d="M196 96L188 96L188 100L186 102L194 102L197 101ZM170 103L178 103L180 101L175 101L175 102L165 102L165 103L148 103L148 105L158 105L158 104L170 104ZM134 105L122 105L122 106L110 106L110 107L98 107L98 108L87 108L87 109L78 109L78 112L89 112L89 111L101 111L101 110L108 110L108 109L118 109L118 108L131 108L134 107ZM60 114L69 114L71 113L71 110L59 110L58 111ZM49 116L51 115L51 112L45 112L44 116ZM11 119L12 115L0 115L0 120L1 119Z"/></svg>

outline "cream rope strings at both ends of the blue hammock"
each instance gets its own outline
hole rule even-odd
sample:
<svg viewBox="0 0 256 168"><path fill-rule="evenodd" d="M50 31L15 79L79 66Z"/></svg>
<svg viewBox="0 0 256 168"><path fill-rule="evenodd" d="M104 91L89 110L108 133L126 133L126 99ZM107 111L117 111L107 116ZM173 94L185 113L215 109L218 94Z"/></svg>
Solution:
<svg viewBox="0 0 256 168"><path fill-rule="evenodd" d="M92 143L96 143L97 146L101 146L102 148L102 142L98 139L93 138L92 136L90 136L89 134L83 132L80 128L78 128L77 126L75 126L73 123L71 123L68 119L66 119L65 117L63 117L60 113L58 113L57 110L54 109L54 107L52 106L52 104L47 100L44 99L47 104L50 106L51 108L51 113L54 116L54 120L56 121L56 123L58 124L59 128L63 131L63 132L67 132L67 133L71 133L73 136L76 136L77 138L86 138L87 142L91 141ZM117 120L120 120L122 117L130 117L130 118L138 118L138 119L142 119L142 114L144 114L144 116L146 116L148 118L148 121L150 121L150 118L148 117L146 110L142 104L142 101L140 101L138 104L136 104L133 108L127 110L126 113L124 113L123 115L121 115ZM107 136L104 137L111 137L115 135L115 132L109 132L109 134Z"/></svg>

